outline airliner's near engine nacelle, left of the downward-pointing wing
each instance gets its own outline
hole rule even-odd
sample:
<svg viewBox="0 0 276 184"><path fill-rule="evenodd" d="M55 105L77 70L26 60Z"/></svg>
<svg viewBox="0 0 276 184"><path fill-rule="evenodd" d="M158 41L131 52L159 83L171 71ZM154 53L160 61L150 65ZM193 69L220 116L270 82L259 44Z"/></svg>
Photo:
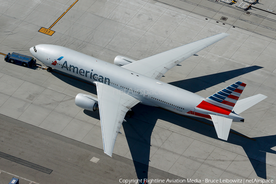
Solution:
<svg viewBox="0 0 276 184"><path fill-rule="evenodd" d="M88 94L79 93L75 98L75 104L82 109L95 111L99 110L98 99Z"/></svg>

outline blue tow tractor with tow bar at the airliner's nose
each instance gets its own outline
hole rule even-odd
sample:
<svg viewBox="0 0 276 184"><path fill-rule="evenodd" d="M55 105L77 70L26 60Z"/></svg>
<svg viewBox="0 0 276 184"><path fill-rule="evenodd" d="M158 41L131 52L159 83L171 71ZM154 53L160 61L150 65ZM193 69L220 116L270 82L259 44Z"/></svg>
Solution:
<svg viewBox="0 0 276 184"><path fill-rule="evenodd" d="M36 59L30 56L25 56L23 54L18 54L13 52L12 54L8 53L5 56L5 61L13 63L13 64L18 64L24 67L40 67L42 69L47 69L46 67L42 67L41 65L36 64Z"/></svg>

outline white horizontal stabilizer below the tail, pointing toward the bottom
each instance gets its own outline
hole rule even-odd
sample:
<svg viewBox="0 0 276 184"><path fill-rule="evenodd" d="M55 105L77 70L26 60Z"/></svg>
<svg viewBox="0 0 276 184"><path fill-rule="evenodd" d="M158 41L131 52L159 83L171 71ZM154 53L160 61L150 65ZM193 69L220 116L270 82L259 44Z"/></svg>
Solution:
<svg viewBox="0 0 276 184"><path fill-rule="evenodd" d="M214 114L209 115L212 117L213 124L217 132L217 137L223 140L227 140L233 120L227 117L217 116Z"/></svg>

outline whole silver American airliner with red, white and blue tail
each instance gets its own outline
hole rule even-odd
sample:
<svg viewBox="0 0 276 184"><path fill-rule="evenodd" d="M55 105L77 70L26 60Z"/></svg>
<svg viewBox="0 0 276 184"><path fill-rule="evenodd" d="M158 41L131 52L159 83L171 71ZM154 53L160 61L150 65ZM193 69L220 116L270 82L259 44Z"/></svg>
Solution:
<svg viewBox="0 0 276 184"><path fill-rule="evenodd" d="M58 45L39 44L30 52L47 71L54 68L96 85L98 98L79 93L75 104L99 110L104 153L112 156L124 118L133 115L131 108L137 103L212 119L218 138L227 140L232 122L244 122L238 114L267 98L257 94L238 100L246 86L240 81L208 98L160 81L172 67L226 36L220 33L138 61L116 56L114 64Z"/></svg>

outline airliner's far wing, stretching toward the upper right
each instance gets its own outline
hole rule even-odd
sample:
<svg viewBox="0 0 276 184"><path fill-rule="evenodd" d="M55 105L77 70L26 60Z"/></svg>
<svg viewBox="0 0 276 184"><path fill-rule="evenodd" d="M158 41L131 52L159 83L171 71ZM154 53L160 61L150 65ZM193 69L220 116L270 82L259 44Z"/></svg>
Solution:
<svg viewBox="0 0 276 184"><path fill-rule="evenodd" d="M228 35L229 34L226 33L220 33L121 67L148 76L152 79L160 80L172 67Z"/></svg>

